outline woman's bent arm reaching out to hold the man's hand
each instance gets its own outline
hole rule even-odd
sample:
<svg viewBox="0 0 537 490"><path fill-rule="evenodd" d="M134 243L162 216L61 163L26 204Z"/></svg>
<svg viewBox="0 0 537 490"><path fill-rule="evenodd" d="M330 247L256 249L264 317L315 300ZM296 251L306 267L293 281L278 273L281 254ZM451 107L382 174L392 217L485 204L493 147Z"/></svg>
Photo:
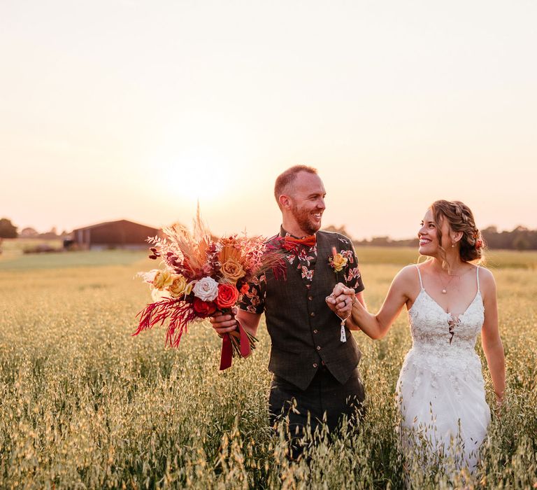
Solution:
<svg viewBox="0 0 537 490"><path fill-rule="evenodd" d="M348 328L364 330L364 333L372 339L382 339L408 301L408 290L415 281L415 272L412 270L414 268L405 267L399 271L389 286L386 299L376 315L369 313L362 302L354 301L350 318L347 321ZM345 294L344 291L343 294Z"/></svg>

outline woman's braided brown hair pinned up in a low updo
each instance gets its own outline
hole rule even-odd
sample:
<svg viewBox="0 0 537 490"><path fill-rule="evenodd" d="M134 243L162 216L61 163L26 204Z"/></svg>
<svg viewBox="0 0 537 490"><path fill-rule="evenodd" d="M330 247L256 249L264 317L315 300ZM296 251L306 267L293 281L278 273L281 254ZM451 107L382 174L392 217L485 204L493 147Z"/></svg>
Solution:
<svg viewBox="0 0 537 490"><path fill-rule="evenodd" d="M485 241L481 232L475 226L475 220L471 209L460 201L439 200L431 204L434 221L440 225L443 219L447 219L450 228L454 232L461 232L459 241L459 254L461 260L470 262L471 260L483 259L483 248ZM442 241L442 232L438 226L438 240Z"/></svg>

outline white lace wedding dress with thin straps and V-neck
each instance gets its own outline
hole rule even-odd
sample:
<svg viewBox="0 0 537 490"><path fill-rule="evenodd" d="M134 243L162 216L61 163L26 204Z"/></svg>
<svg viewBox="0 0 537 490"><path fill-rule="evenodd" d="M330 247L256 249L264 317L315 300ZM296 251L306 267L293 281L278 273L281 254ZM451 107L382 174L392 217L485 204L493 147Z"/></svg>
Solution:
<svg viewBox="0 0 537 490"><path fill-rule="evenodd" d="M485 401L475 339L485 318L476 268L477 293L464 313L446 313L423 287L408 310L413 345L397 381L402 441L406 450L424 451L424 464L451 456L456 468L473 471L487 435Z"/></svg>

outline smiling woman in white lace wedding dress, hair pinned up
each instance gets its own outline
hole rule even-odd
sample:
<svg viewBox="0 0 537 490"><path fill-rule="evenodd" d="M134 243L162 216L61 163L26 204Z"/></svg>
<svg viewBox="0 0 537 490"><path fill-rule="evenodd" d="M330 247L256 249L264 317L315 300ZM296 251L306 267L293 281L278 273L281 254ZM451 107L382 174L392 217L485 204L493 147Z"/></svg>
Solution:
<svg viewBox="0 0 537 490"><path fill-rule="evenodd" d="M490 421L474 349L479 332L496 403L501 404L505 389L496 284L488 269L471 263L482 258L483 241L462 202L434 202L418 237L427 261L401 269L377 314L341 283L327 302L343 318L350 312L348 327L373 339L386 335L406 305L413 346L396 385L403 447L417 450L425 442L429 464L454 456L457 468L473 471Z"/></svg>

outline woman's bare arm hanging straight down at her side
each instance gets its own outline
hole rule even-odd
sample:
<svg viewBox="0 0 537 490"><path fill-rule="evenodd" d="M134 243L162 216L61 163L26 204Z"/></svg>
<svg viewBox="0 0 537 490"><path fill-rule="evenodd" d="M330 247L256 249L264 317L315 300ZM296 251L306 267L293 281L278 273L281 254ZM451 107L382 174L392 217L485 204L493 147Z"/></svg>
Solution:
<svg viewBox="0 0 537 490"><path fill-rule="evenodd" d="M503 400L503 392L506 390L506 362L503 355L498 328L498 301L496 299L496 282L492 272L480 268L481 289L483 304L485 306L485 322L481 329L481 342L483 351L487 357L490 377L494 385L496 401Z"/></svg>

